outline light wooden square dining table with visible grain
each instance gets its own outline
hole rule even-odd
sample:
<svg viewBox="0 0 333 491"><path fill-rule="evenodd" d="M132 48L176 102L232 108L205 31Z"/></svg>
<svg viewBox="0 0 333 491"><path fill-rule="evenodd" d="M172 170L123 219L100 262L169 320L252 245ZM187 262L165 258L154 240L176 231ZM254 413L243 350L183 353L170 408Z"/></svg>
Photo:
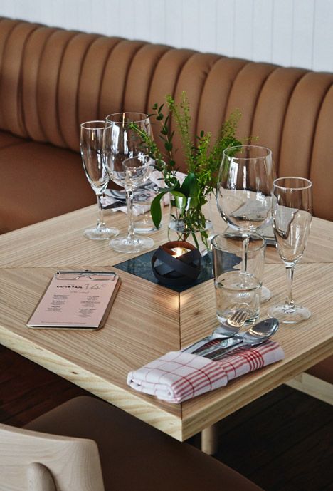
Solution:
<svg viewBox="0 0 333 491"><path fill-rule="evenodd" d="M48 280L57 269L112 270L112 264L129 259L107 242L83 237L96 219L88 207L18 229L0 237L0 343L58 373L100 398L185 440L262 396L333 353L333 223L312 222L312 232L302 263L295 274L295 299L312 311L308 321L280 326L275 339L285 360L243 376L211 393L181 405L163 403L132 391L127 373L167 351L208 334L217 324L213 280L181 296L126 272L111 314L100 331L45 331L26 327L26 321ZM166 222L167 219L164 219ZM107 222L125 231L126 216L107 215ZM214 217L216 231L224 225ZM153 235L166 242L166 226ZM268 248L265 284L273 291L268 306L285 296L282 262Z"/></svg>

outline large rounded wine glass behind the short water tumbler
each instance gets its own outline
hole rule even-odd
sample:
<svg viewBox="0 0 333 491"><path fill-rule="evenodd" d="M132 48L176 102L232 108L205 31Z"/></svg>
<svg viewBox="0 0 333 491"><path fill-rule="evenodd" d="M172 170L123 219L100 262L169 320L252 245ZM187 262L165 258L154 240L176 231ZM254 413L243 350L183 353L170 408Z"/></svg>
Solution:
<svg viewBox="0 0 333 491"><path fill-rule="evenodd" d="M238 145L223 152L218 173L216 200L218 211L229 227L243 233L244 267L248 235L260 234L272 212L272 190L275 179L272 152L257 145ZM261 300L270 299L270 291L262 287Z"/></svg>

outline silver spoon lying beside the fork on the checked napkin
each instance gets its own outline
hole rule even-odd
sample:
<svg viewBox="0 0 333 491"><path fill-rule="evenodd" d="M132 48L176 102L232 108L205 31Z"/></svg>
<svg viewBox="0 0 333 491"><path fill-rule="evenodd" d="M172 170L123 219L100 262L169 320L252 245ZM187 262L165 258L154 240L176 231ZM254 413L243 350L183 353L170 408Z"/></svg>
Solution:
<svg viewBox="0 0 333 491"><path fill-rule="evenodd" d="M220 343L210 346L199 353L194 352L194 354L199 354L211 360L217 360L233 349L265 343L265 341L268 341L275 334L278 327L279 321L274 317L265 319L255 324L255 326L250 327L247 331L233 336L233 338L223 339Z"/></svg>

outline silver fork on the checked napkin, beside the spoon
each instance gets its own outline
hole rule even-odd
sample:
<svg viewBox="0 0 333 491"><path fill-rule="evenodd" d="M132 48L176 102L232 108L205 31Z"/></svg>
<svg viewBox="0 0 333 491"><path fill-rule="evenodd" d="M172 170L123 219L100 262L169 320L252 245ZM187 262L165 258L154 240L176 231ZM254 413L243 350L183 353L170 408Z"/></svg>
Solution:
<svg viewBox="0 0 333 491"><path fill-rule="evenodd" d="M211 341L216 341L216 339L228 339L235 336L238 333L240 328L245 323L246 319L248 319L248 311L246 309L237 309L231 314L228 319L226 319L221 326L218 326L214 331L206 336L205 338L200 339L200 341L196 341L196 343L191 344L184 348L183 353L199 353L201 348L206 346L206 344Z"/></svg>

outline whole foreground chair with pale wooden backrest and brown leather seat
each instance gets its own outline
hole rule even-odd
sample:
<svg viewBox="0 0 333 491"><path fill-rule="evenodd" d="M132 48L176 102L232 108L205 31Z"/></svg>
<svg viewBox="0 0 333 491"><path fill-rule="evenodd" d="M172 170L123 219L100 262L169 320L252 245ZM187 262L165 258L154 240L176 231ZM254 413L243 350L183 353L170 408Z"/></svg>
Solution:
<svg viewBox="0 0 333 491"><path fill-rule="evenodd" d="M72 399L25 429L0 425L1 491L203 489L260 491L192 445L96 398Z"/></svg>

